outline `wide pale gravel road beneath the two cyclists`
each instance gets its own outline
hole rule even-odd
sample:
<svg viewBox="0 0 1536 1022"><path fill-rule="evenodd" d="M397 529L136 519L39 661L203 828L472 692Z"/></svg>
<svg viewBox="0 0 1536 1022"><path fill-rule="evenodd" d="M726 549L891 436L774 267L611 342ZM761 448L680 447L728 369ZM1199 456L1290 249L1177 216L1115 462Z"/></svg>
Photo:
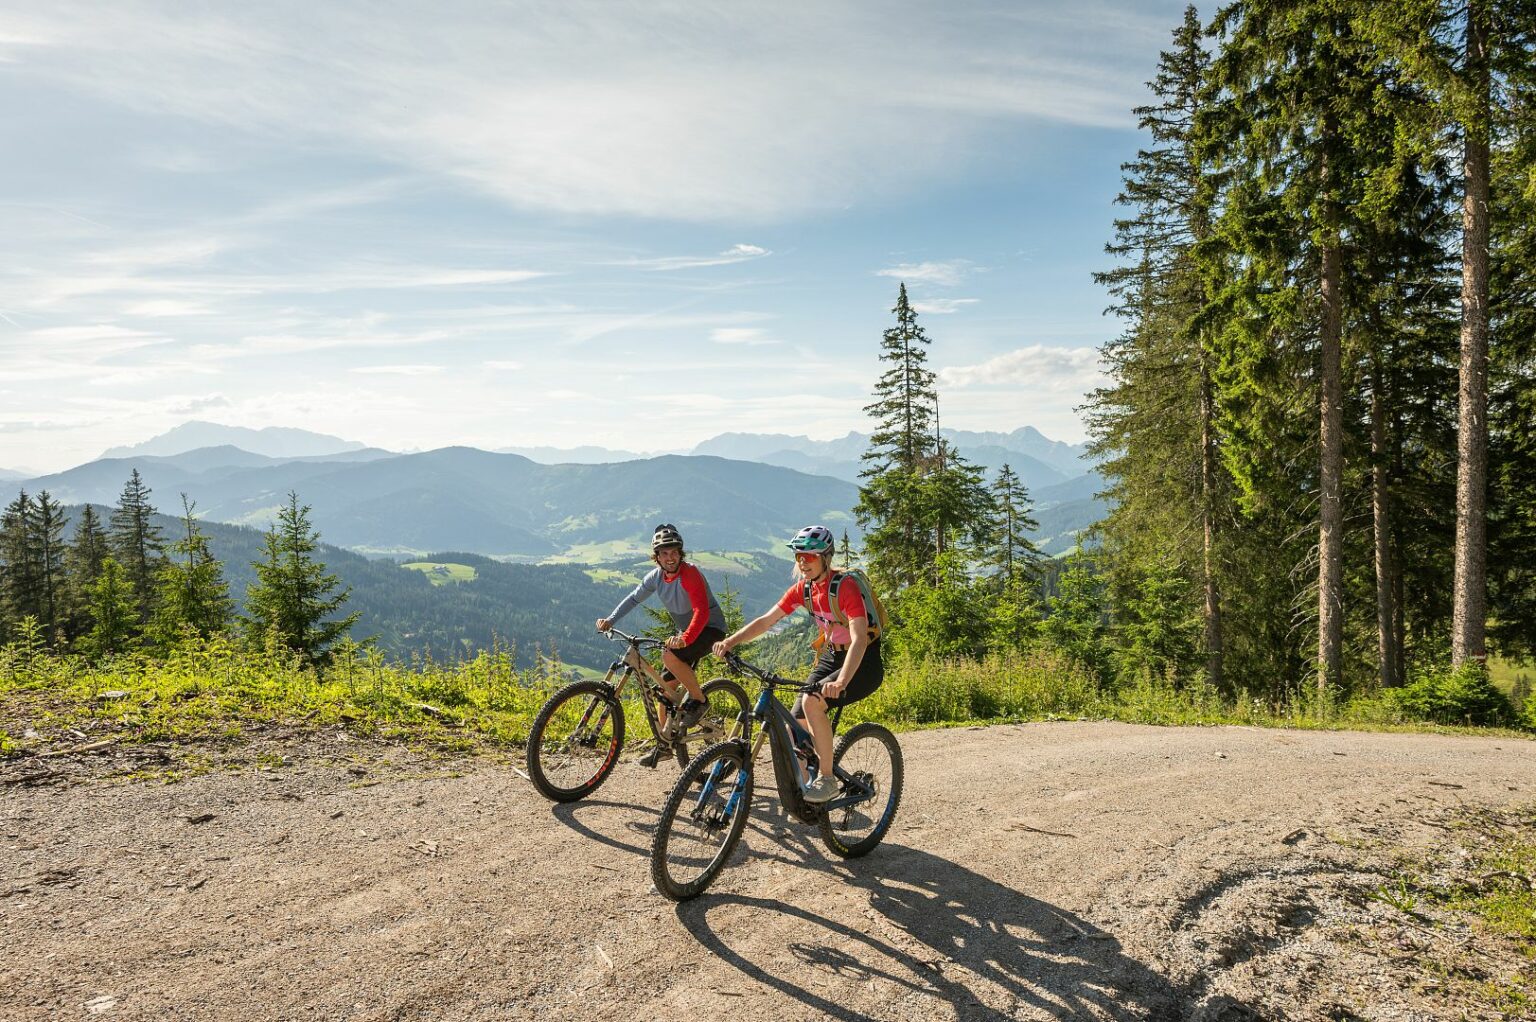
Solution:
<svg viewBox="0 0 1536 1022"><path fill-rule="evenodd" d="M1536 745L1508 738L1084 722L902 745L874 854L829 858L760 785L682 907L648 878L665 765L551 807L505 764L339 735L180 784L17 784L35 764L12 762L0 1017L1461 1017L1425 974L1435 927L1370 893L1389 850L1536 801Z"/></svg>

